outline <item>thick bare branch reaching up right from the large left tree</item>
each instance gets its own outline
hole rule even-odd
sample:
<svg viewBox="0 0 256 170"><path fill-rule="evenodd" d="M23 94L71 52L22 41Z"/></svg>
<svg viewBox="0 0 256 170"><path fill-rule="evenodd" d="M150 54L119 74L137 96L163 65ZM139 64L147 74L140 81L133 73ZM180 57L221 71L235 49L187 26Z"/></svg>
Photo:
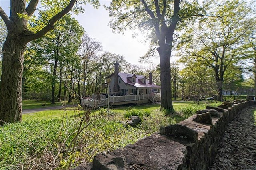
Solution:
<svg viewBox="0 0 256 170"><path fill-rule="evenodd" d="M25 38L25 41L30 42L32 40L35 40L37 38L44 36L50 30L53 30L55 22L57 22L62 16L67 14L72 9L72 7L74 6L75 3L76 3L76 0L70 0L70 3L68 4L68 6L66 6L66 8L64 8L58 14L53 16L52 19L49 20L48 24L42 30L40 30L39 32L37 32L35 34L27 35Z"/></svg>

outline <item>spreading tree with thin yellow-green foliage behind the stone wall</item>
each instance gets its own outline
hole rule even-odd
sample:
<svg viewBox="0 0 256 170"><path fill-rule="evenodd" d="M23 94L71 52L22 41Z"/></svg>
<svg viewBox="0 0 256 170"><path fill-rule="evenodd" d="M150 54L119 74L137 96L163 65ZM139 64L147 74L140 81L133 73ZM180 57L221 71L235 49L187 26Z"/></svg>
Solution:
<svg viewBox="0 0 256 170"><path fill-rule="evenodd" d="M235 91L243 81L240 65L243 63L242 56L248 49L244 45L253 35L252 32L255 32L255 18L251 17L255 15L253 4L254 2L243 0L218 2L206 0L202 4L204 14L211 17L198 17L197 23L187 24L185 34L182 33L183 35L180 36L183 38L178 45L180 49L178 55L186 65L186 70L190 68L196 73L193 66L207 67L204 72L197 75L203 78L202 73L210 73L210 77L214 77L215 84L213 84L219 100L222 98L223 88ZM193 72L189 71L189 73ZM193 76L188 78L190 81L193 80Z"/></svg>

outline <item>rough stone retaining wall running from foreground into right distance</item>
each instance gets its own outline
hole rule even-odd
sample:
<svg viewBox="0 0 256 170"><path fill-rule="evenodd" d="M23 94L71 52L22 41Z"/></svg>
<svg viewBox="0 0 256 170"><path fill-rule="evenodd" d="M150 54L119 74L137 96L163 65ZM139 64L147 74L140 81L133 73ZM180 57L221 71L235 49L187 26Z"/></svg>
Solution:
<svg viewBox="0 0 256 170"><path fill-rule="evenodd" d="M76 170L207 170L228 123L254 101L226 102L143 138L135 144L100 153Z"/></svg>

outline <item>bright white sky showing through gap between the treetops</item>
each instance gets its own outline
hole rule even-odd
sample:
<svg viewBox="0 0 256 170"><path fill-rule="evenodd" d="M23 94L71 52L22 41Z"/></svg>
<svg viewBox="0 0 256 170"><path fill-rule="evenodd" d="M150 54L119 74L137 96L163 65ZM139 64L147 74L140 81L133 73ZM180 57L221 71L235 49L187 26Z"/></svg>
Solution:
<svg viewBox="0 0 256 170"><path fill-rule="evenodd" d="M147 66L147 63L139 63L139 57L143 56L149 45L144 42L143 35L132 38L132 31L128 30L124 34L113 33L108 22L110 20L108 11L102 6L110 4L110 0L100 0L101 6L94 9L91 5L84 6L85 13L74 16L84 27L90 37L102 43L103 49L111 53L123 55L126 61L132 64ZM6 14L10 15L10 0L0 0L0 6ZM152 63L159 64L158 57L152 59Z"/></svg>

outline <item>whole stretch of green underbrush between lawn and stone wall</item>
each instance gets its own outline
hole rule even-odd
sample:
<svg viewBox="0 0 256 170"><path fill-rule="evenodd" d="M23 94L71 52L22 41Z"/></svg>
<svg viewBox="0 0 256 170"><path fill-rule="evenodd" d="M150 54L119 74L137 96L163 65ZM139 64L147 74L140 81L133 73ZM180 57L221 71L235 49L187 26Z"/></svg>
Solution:
<svg viewBox="0 0 256 170"><path fill-rule="evenodd" d="M38 118L40 114L33 113L34 118L26 117L20 123L0 127L0 169L70 169L91 162L99 152L122 148L150 136L159 127L178 123L205 107L177 106L176 114L169 116L160 111L160 105L154 105L154 109L150 106L123 111L112 109L109 120L106 109L80 114L74 111L73 115L61 111L62 116L53 118L50 114ZM120 123L132 115L142 118L140 126L125 127Z"/></svg>

